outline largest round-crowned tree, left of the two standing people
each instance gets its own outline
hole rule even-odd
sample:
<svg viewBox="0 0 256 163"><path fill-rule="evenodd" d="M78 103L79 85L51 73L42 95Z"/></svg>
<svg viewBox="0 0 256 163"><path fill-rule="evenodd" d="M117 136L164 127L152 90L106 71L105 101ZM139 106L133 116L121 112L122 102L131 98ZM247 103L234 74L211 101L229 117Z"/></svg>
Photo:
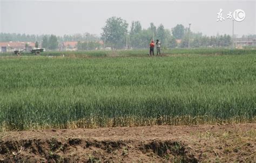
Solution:
<svg viewBox="0 0 256 163"><path fill-rule="evenodd" d="M102 40L111 43L114 48L122 48L126 43L128 23L120 17L111 17L103 27Z"/></svg>

